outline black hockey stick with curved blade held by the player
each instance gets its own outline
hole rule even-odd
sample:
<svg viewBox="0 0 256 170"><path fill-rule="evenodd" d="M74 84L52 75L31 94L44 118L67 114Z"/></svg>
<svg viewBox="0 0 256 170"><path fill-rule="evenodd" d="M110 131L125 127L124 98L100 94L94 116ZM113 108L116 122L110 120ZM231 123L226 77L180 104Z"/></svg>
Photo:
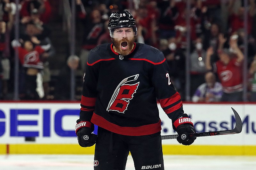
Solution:
<svg viewBox="0 0 256 170"><path fill-rule="evenodd" d="M231 107L232 108L232 107ZM236 134L242 131L242 120L235 109L233 109L236 119L236 126L234 129L231 130L220 130L220 131L212 131L212 132L198 132L198 133L190 133L189 137L206 137L206 136L217 136L217 135L229 135L229 134ZM184 134L182 134L184 135ZM163 139L176 139L179 135L164 135L162 136ZM184 137L184 139L186 136Z"/></svg>

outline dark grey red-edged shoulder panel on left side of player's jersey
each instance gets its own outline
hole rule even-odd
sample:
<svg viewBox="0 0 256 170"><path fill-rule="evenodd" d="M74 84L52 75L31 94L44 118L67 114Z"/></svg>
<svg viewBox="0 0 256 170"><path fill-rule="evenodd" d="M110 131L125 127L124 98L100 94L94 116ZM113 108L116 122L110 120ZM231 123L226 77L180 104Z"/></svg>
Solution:
<svg viewBox="0 0 256 170"><path fill-rule="evenodd" d="M95 63L98 63L102 60L109 60L112 58L111 55L108 53L108 46L110 44L101 44L94 48L92 48L88 55L87 64L93 65Z"/></svg>

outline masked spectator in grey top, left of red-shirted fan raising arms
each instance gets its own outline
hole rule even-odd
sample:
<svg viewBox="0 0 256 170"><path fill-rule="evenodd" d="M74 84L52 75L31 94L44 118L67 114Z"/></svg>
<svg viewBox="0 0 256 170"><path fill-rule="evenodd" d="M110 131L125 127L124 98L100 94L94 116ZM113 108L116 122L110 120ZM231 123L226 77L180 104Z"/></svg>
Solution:
<svg viewBox="0 0 256 170"><path fill-rule="evenodd" d="M190 54L190 96L192 96L197 87L204 83L205 67L205 50L203 49L202 38L197 38L194 41L194 50Z"/></svg>

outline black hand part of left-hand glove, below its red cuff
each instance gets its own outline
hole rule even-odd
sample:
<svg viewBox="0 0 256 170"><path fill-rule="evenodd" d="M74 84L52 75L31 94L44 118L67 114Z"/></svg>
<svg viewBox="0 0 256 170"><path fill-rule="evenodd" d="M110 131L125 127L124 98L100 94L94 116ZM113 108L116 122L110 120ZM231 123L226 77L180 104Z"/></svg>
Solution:
<svg viewBox="0 0 256 170"><path fill-rule="evenodd" d="M77 141L82 147L90 147L96 143L97 135L91 133L91 128L83 127L77 131Z"/></svg>

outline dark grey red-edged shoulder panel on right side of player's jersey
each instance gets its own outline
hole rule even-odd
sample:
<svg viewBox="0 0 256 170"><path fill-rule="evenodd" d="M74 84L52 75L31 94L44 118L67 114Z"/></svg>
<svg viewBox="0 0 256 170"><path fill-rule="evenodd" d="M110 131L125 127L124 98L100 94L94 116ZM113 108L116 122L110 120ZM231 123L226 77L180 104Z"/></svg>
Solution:
<svg viewBox="0 0 256 170"><path fill-rule="evenodd" d="M145 60L150 63L157 64L164 62L165 57L159 49L147 44L140 44L134 59Z"/></svg>

